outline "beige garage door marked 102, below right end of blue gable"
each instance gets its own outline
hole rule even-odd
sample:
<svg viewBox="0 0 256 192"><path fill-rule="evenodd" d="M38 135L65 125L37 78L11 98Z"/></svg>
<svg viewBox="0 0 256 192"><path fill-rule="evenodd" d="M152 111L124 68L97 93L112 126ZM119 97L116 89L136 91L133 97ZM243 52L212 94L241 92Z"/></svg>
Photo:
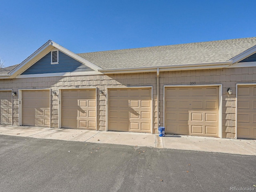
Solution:
<svg viewBox="0 0 256 192"><path fill-rule="evenodd" d="M96 130L96 89L62 90L61 127Z"/></svg>

